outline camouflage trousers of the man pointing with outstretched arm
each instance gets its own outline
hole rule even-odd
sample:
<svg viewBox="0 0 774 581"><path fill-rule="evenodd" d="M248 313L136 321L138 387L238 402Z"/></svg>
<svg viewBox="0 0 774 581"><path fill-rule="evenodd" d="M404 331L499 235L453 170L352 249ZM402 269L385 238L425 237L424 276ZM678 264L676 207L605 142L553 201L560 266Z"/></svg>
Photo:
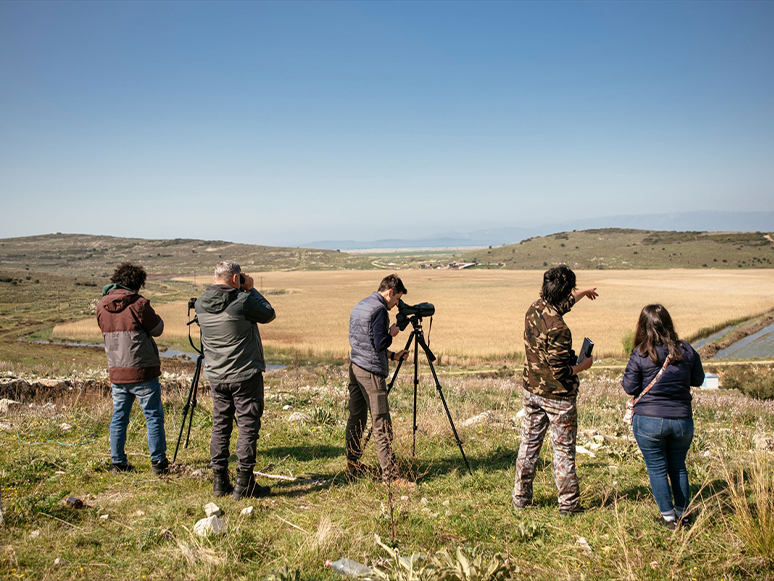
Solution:
<svg viewBox="0 0 774 581"><path fill-rule="evenodd" d="M578 477L575 475L575 442L578 434L578 408L575 398L548 399L524 390L524 416L521 446L516 460L513 504L524 507L532 502L532 482L546 429L551 428L554 448L554 480L559 491L559 508L573 509L580 504Z"/></svg>

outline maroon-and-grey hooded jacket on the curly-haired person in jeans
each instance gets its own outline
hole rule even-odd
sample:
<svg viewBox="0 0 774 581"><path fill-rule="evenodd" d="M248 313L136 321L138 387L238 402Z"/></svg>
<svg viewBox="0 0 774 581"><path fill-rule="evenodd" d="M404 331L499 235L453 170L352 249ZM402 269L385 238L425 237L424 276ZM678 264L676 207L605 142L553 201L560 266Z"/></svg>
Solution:
<svg viewBox="0 0 774 581"><path fill-rule="evenodd" d="M159 349L153 337L164 331L148 299L117 288L97 304L97 323L105 338L112 383L140 383L161 375Z"/></svg>

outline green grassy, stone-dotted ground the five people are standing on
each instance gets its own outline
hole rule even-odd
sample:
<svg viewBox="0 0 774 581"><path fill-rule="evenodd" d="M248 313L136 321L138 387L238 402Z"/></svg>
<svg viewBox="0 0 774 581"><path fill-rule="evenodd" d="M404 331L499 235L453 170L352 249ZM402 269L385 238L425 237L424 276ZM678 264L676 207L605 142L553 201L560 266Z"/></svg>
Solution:
<svg viewBox="0 0 774 581"><path fill-rule="evenodd" d="M472 475L428 377L420 388L412 460L410 381L403 378L391 396L396 451L405 474L417 482L403 492L388 490L376 478L350 482L343 474L345 371L320 365L267 374L256 469L286 479L260 479L272 484L266 499L219 499L228 530L205 539L192 531L204 517L203 506L214 500L206 394L194 416L190 448L181 450L176 472L162 479L150 475L144 420L136 408L127 451L137 471L120 476L109 472L109 398L75 391L55 402L54 411L41 409L45 402L38 401L37 408L25 405L0 417L10 424L0 431L6 520L0 528L0 576L252 580L287 564L301 579L337 579L324 568L327 559L372 563L386 557L374 541L378 534L404 555L458 546L477 547L490 557L505 553L517 579L774 577L774 458L756 451L754 442L756 434L772 435L774 402L738 392L696 394L689 454L696 522L689 531L671 532L653 522L657 509L645 466L621 421L625 397L610 372L581 386L578 443L597 447L594 458L578 455L583 503L590 510L565 519L556 508L550 444L541 452L535 506L511 509L520 438L517 378L441 374ZM186 391L165 391L170 455ZM290 423L294 411L311 421ZM488 422L463 427L465 419L484 411L492 412ZM373 444L364 459L376 473ZM86 508L64 506L68 496L83 499ZM255 515L240 516L250 505ZM579 544L581 537L588 548ZM67 564L54 565L56 558Z"/></svg>

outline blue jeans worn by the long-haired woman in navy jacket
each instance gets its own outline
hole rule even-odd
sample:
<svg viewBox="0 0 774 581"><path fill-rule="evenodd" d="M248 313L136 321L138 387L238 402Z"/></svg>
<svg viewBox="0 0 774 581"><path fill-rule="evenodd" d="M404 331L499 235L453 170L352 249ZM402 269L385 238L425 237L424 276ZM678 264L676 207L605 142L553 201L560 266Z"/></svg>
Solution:
<svg viewBox="0 0 774 581"><path fill-rule="evenodd" d="M693 418L651 418L635 414L632 429L648 468L650 489L659 511L669 514L675 510L678 515L682 514L691 498L685 457L693 440Z"/></svg>

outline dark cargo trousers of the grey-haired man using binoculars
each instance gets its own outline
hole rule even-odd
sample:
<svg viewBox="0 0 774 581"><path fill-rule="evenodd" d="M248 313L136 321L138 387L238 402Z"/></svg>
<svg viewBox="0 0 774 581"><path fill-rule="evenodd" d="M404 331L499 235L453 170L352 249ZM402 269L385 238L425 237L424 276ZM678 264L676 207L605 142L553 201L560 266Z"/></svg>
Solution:
<svg viewBox="0 0 774 581"><path fill-rule="evenodd" d="M255 468L256 442L263 415L263 374L234 383L210 383L212 391L212 438L210 466L227 469L231 431L236 419L237 469L252 472Z"/></svg>

